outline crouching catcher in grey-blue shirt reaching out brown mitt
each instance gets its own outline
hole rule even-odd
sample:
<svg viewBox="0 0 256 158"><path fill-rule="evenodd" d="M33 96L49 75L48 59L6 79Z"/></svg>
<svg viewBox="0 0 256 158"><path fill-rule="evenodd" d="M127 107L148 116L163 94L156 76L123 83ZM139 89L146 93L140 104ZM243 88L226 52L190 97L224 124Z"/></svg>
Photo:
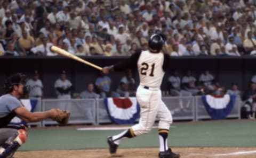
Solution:
<svg viewBox="0 0 256 158"><path fill-rule="evenodd" d="M14 74L5 81L6 94L0 97L0 158L12 157L14 152L26 142L26 127L9 125L15 116L25 122L51 118L61 125L68 123L70 116L68 111L59 109L43 112L28 111L20 101L20 98L28 93L26 82L27 77L23 74Z"/></svg>

